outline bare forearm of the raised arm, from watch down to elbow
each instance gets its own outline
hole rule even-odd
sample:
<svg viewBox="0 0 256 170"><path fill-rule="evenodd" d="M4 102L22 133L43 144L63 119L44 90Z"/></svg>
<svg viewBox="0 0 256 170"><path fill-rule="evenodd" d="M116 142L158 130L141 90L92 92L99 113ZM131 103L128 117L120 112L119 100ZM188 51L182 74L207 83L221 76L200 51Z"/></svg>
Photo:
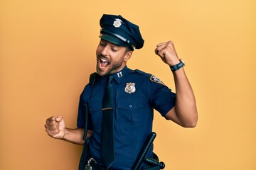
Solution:
<svg viewBox="0 0 256 170"><path fill-rule="evenodd" d="M173 72L173 74L176 86L176 117L182 126L195 127L198 113L191 84L186 77L183 67Z"/></svg>

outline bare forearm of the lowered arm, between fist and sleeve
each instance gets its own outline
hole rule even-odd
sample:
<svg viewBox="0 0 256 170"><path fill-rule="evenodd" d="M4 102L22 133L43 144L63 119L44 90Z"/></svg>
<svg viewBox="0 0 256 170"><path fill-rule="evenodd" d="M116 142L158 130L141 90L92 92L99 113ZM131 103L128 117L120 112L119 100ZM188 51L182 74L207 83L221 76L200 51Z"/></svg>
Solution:
<svg viewBox="0 0 256 170"><path fill-rule="evenodd" d="M64 130L64 137L62 140L67 142L72 142L77 145L84 145L85 141L83 140L84 129L77 128L77 129L69 129L65 128Z"/></svg>

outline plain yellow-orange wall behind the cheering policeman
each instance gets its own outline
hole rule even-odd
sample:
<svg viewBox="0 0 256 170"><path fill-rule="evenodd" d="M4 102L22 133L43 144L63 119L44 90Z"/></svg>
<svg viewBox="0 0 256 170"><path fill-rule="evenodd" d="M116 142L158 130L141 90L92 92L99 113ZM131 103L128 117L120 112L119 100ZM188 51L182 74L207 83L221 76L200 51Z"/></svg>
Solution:
<svg viewBox="0 0 256 170"><path fill-rule="evenodd" d="M186 62L198 126L156 113L155 152L167 170L256 169L256 1L0 1L0 169L77 169L82 147L43 125L63 115L75 128L79 95L95 72L103 13L140 26L145 45L128 66L171 89L154 47L173 40Z"/></svg>

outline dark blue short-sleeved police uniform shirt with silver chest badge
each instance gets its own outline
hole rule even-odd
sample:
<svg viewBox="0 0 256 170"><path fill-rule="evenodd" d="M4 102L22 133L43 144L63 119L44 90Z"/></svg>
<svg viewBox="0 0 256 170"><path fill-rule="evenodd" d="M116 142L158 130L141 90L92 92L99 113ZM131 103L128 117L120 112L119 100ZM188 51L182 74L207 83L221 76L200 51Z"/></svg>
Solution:
<svg viewBox="0 0 256 170"><path fill-rule="evenodd" d="M98 164L101 164L102 98L107 86L106 79L107 77L96 77L88 100L85 94L89 93L90 84L85 86L80 96L78 111L78 128L84 128L83 103L87 100L89 111L87 128L92 130L90 154ZM175 105L176 94L151 74L127 67L114 74L112 86L115 160L111 168L130 170L152 132L154 109L162 116L166 115ZM151 155L152 149L149 150L147 157Z"/></svg>

